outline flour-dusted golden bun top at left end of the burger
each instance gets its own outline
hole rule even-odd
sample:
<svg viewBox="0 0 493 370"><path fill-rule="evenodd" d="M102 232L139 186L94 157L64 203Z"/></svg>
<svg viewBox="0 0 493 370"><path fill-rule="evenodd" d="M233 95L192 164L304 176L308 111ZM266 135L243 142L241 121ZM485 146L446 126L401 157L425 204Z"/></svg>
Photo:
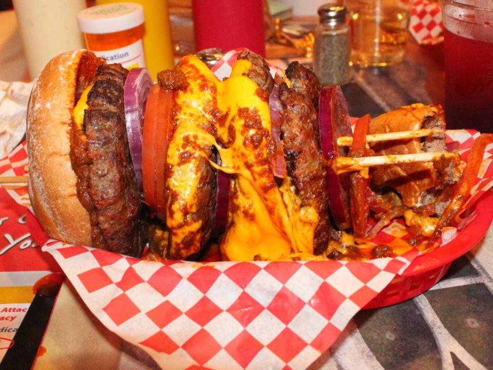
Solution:
<svg viewBox="0 0 493 370"><path fill-rule="evenodd" d="M27 107L28 189L46 234L70 244L91 245L89 214L77 197L70 162L76 95L89 85L101 60L87 50L53 58L34 83Z"/></svg>

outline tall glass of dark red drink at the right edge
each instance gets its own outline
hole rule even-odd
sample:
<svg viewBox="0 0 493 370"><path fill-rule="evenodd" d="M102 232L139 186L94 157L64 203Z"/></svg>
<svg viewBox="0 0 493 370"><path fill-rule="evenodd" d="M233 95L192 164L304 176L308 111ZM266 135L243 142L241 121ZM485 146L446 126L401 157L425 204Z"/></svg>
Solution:
<svg viewBox="0 0 493 370"><path fill-rule="evenodd" d="M447 128L493 132L493 1L442 0Z"/></svg>

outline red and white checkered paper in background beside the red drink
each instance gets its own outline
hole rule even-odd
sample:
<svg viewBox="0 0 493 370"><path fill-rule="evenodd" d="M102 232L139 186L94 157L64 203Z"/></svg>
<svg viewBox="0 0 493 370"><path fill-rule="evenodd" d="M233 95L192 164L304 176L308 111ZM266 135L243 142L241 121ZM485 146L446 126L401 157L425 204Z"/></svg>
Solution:
<svg viewBox="0 0 493 370"><path fill-rule="evenodd" d="M443 42L442 8L438 2L415 0L409 20L409 32L423 45Z"/></svg>

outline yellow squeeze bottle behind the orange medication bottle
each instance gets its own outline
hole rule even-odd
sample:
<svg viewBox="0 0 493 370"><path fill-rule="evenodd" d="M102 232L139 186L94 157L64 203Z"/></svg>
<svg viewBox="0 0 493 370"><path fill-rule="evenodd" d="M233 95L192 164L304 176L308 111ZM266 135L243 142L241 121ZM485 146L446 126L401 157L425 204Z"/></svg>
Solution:
<svg viewBox="0 0 493 370"><path fill-rule="evenodd" d="M116 2L122 2L122 0L96 0L97 5ZM171 27L169 25L168 2L166 0L125 0L124 2L137 3L144 7L145 62L150 75L156 81L159 71L173 69L175 65Z"/></svg>

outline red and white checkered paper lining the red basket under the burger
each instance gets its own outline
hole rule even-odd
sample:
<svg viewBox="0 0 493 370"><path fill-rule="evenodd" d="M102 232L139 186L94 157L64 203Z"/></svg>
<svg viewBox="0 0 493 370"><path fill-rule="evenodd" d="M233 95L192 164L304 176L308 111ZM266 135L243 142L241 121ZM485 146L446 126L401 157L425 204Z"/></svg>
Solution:
<svg viewBox="0 0 493 370"><path fill-rule="evenodd" d="M216 69L229 74L233 54ZM461 143L465 159L478 135L446 136ZM487 150L475 199L493 185L493 146ZM18 146L0 161L0 174L25 174L26 158L25 145ZM27 205L25 188L9 193ZM408 236L394 223L375 242ZM411 250L367 262L158 263L53 240L43 250L109 330L169 369L306 368L418 255Z"/></svg>

